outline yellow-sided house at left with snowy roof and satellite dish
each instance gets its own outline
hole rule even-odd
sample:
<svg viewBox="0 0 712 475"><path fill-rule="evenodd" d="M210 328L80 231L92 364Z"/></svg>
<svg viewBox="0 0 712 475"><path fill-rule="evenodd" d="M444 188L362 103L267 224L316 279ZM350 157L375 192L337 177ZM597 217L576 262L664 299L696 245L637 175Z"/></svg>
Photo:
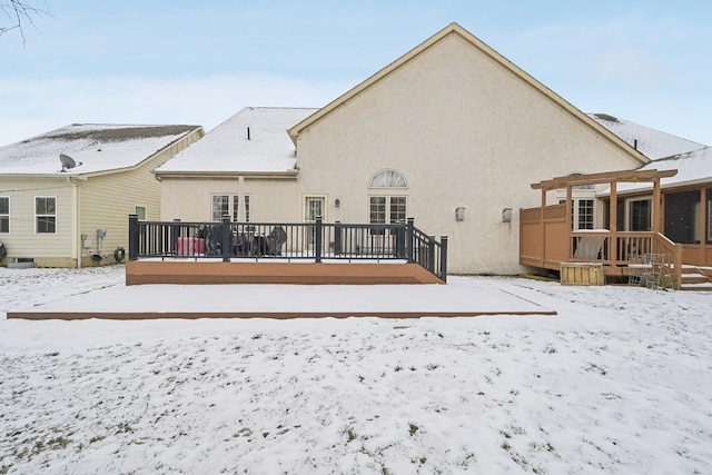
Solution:
<svg viewBox="0 0 712 475"><path fill-rule="evenodd" d="M71 125L0 147L2 264L120 258L128 215L159 219L152 170L202 136L199 126Z"/></svg>

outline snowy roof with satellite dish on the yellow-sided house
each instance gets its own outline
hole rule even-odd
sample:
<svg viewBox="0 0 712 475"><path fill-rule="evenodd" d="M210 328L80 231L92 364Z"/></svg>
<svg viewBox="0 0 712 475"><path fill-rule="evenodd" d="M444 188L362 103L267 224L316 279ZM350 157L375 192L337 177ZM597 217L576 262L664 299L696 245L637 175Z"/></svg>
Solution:
<svg viewBox="0 0 712 475"><path fill-rule="evenodd" d="M132 167L199 128L73 123L0 147L0 175L86 175ZM61 171L60 154L77 167Z"/></svg>

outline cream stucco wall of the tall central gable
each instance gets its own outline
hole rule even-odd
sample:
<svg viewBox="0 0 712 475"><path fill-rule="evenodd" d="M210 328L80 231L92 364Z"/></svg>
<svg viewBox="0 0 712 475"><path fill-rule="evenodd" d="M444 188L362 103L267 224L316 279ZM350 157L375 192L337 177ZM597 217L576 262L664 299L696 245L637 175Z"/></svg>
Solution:
<svg viewBox="0 0 712 475"><path fill-rule="evenodd" d="M342 221L368 219L368 181L408 181L408 216L451 238L453 273L511 274L531 184L570 171L633 168L620 148L457 36L446 37L301 130L304 194L338 197ZM394 191L398 192L398 191ZM465 220L455 221L455 208ZM514 209L503 224L502 208ZM330 208L333 209L333 208Z"/></svg>

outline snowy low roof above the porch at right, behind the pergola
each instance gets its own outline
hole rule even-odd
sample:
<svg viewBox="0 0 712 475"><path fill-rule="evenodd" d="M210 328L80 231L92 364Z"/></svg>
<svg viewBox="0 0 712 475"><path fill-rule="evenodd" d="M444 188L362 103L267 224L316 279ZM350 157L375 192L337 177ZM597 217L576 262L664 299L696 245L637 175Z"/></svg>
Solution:
<svg viewBox="0 0 712 475"><path fill-rule="evenodd" d="M712 184L712 147L703 147L685 154L653 160L644 167L639 168L639 170L678 170L678 175L674 177L662 178L660 180L662 188ZM652 189L652 185L645 182L620 182L616 187L619 194L645 189ZM609 195L611 189L609 187L601 195Z"/></svg>

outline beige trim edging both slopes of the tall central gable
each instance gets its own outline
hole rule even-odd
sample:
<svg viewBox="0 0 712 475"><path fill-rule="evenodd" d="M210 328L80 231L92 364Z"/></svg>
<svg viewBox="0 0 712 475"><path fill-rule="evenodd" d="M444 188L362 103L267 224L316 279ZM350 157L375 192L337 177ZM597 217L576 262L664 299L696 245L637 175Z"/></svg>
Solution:
<svg viewBox="0 0 712 475"><path fill-rule="evenodd" d="M468 44L471 44L474 49L479 51L482 55L490 58L493 62L500 65L502 68L506 69L512 75L516 76L518 79L526 82L530 87L532 87L534 90L540 92L542 96L555 102L558 107L562 108L562 110L567 111L572 117L577 119L584 127L590 128L594 133L602 137L604 140L609 141L614 147L621 149L634 164L640 166L640 165L647 164L650 161L647 157L645 157L641 152L633 149L623 139L621 139L615 133L607 130L605 127L597 123L595 120L593 120L591 117L583 113L581 110L576 109L570 102L564 100L561 96L553 92L551 89L542 85L540 81L534 79L532 76L526 73L524 70L518 68L516 65L514 65L506 58L504 58L497 51L495 51L494 49L485 44L483 41L481 41L478 38L476 38L474 34L472 34L469 31L465 30L457 23L451 23L449 26L447 26L446 28L444 28L443 30L441 30L429 39L425 40L419 46L415 47L413 50L408 51L406 55L402 56L400 58L398 58L390 65L386 66L385 68L383 68L382 70L379 70L378 72L376 72L375 75L373 75L372 77L363 81L362 83L357 85L346 93L342 95L334 101L326 105L324 108L319 109L316 113L307 117L305 120L294 126L291 129L289 129L289 136L291 137L291 140L296 144L299 133L304 129L307 129L308 127L324 119L338 107L343 106L344 103L359 96L362 92L364 92L365 90L367 90L368 88L370 88L372 86L374 86L375 83L377 83L378 81L387 77L388 75L393 73L394 71L399 69L402 66L406 65L408 61L412 61L413 59L421 56L423 52L435 47L437 43L439 43L441 41L443 41L445 38L449 36L459 37L461 39L466 41Z"/></svg>

